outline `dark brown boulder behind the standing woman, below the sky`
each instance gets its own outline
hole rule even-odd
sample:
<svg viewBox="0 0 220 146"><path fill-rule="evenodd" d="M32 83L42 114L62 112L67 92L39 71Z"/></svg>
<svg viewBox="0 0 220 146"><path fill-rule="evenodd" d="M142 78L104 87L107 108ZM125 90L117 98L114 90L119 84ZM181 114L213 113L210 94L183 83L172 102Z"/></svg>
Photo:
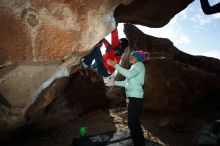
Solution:
<svg viewBox="0 0 220 146"><path fill-rule="evenodd" d="M151 54L145 62L145 109L176 112L208 99L216 104L220 97L219 59L186 54L170 40L145 35L130 24L125 25L125 32L131 50L141 48Z"/></svg>

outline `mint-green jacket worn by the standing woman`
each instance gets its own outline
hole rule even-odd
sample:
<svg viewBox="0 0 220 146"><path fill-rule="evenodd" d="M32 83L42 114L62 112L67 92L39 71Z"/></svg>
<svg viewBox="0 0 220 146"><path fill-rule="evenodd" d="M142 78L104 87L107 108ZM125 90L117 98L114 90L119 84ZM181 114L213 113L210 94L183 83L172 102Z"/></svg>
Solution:
<svg viewBox="0 0 220 146"><path fill-rule="evenodd" d="M116 64L115 69L126 77L124 81L115 81L115 85L124 87L127 97L143 98L143 85L145 78L145 66L143 62L136 62L129 70Z"/></svg>

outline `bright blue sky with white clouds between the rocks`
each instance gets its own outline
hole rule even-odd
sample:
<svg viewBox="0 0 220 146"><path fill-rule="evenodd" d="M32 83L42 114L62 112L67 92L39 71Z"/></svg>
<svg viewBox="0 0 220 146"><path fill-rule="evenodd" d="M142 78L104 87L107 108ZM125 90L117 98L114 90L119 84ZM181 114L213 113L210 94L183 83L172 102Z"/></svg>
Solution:
<svg viewBox="0 0 220 146"><path fill-rule="evenodd" d="M209 0L210 5L219 2ZM191 3L162 28L136 26L146 34L170 39L174 46L186 53L220 59L220 13L205 15L199 0ZM124 37L122 27L123 24L119 24L120 38Z"/></svg>

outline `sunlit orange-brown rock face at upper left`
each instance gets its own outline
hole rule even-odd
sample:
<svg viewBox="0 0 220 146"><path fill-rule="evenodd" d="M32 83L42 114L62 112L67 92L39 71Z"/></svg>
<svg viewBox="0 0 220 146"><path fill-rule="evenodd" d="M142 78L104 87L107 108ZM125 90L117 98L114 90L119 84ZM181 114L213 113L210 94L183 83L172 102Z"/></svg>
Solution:
<svg viewBox="0 0 220 146"><path fill-rule="evenodd" d="M88 51L114 29L120 1L0 2L0 65L60 61Z"/></svg>

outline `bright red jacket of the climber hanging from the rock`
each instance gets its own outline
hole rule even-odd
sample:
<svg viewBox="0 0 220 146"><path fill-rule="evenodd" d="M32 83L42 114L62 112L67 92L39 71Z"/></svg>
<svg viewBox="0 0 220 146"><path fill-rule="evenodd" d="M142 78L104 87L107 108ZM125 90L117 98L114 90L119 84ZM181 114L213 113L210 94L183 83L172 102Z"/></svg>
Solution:
<svg viewBox="0 0 220 146"><path fill-rule="evenodd" d="M109 42L106 39L103 40L103 43L106 47L106 52L103 55L103 64L104 64L105 68L110 73L113 73L115 71L115 68L108 65L107 60L108 59L116 60L117 63L119 63L120 60L121 60L121 56L116 56L115 55L115 48L121 48L121 44L120 44L120 41L118 39L118 30L117 30L117 28L115 28L115 30L111 33L111 45L109 44Z"/></svg>

